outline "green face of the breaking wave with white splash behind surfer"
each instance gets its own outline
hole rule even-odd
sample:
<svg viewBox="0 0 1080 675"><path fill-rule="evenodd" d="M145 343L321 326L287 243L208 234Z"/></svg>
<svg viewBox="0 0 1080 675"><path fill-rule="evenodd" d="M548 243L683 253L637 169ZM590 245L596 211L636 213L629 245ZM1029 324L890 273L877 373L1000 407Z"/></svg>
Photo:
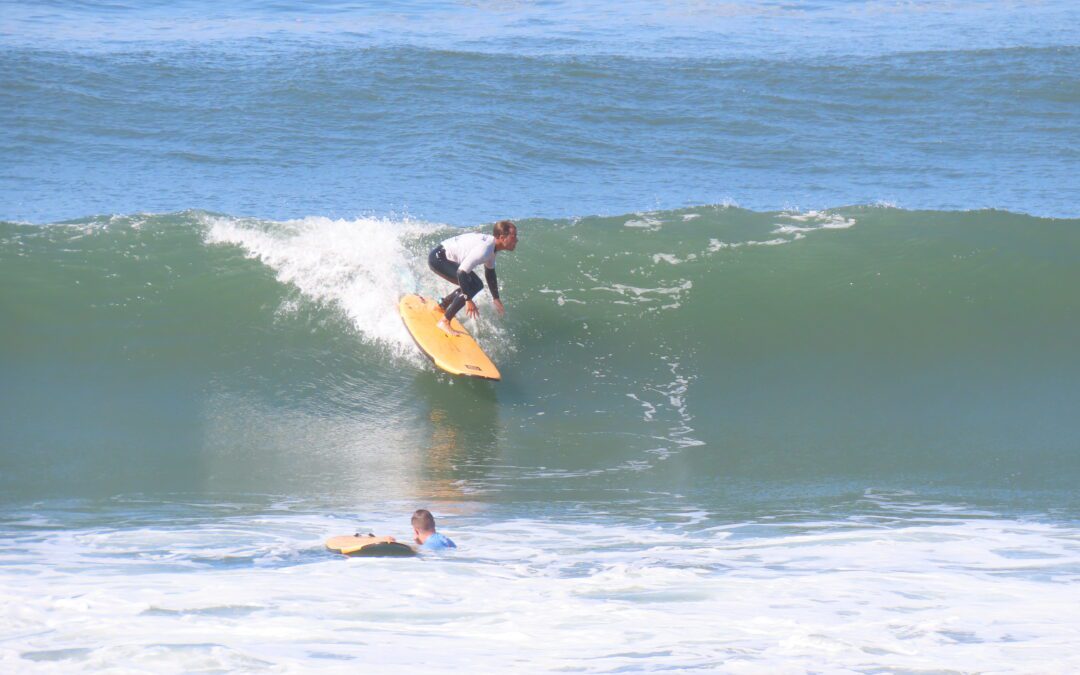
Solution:
<svg viewBox="0 0 1080 675"><path fill-rule="evenodd" d="M572 495L1080 472L1080 222L708 206L521 221L435 372L414 220L189 211L0 226L9 495ZM379 480L373 480L378 476ZM780 488L777 488L780 489Z"/></svg>

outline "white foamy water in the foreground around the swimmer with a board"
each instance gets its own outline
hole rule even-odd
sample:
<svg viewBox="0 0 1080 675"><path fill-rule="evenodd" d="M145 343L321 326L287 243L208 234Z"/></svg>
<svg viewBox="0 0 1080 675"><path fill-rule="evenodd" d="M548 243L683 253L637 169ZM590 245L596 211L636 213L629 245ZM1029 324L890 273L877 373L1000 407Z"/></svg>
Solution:
<svg viewBox="0 0 1080 675"><path fill-rule="evenodd" d="M413 559L323 552L357 525L404 536L386 513L5 532L0 670L1080 670L1074 525L469 510L440 521L456 552Z"/></svg>

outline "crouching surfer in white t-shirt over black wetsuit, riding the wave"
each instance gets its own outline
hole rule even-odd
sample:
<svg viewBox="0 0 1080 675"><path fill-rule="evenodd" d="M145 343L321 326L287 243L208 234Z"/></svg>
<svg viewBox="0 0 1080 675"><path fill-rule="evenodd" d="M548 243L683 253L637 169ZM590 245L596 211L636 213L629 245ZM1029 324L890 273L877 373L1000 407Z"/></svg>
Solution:
<svg viewBox="0 0 1080 675"><path fill-rule="evenodd" d="M480 264L484 264L484 278L487 279L487 287L491 291L491 298L495 301L495 309L501 315L505 310L502 300L499 299L499 282L495 276L495 254L500 251L513 251L517 246L517 226L510 220L499 220L495 224L490 234L481 232L467 232L458 234L435 246L431 255L428 256L428 265L431 270L457 285L449 295L438 303L443 308L443 318L438 320L438 327L447 335L461 335L460 330L455 330L450 325L454 315L465 308L465 314L475 318L480 314L476 305L472 299L484 289L484 282L473 272Z"/></svg>

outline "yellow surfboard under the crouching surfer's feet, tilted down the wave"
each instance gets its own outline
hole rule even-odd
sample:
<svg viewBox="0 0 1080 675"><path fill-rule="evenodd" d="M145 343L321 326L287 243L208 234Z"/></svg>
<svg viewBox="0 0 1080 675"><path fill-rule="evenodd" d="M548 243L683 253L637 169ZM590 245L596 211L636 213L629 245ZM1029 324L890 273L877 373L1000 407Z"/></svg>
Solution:
<svg viewBox="0 0 1080 675"><path fill-rule="evenodd" d="M488 380L501 378L499 369L469 334L449 336L436 326L443 316L438 301L419 295L407 295L397 305L409 335L431 361L450 375L468 375ZM455 329L464 327L455 319Z"/></svg>

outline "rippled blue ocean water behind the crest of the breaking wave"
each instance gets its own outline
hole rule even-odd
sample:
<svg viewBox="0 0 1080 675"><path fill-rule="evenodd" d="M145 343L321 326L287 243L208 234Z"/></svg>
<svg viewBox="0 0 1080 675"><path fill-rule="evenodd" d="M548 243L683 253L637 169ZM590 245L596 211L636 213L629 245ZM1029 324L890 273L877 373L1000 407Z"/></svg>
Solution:
<svg viewBox="0 0 1080 675"><path fill-rule="evenodd" d="M8 220L1080 201L1068 2L3 8Z"/></svg>

